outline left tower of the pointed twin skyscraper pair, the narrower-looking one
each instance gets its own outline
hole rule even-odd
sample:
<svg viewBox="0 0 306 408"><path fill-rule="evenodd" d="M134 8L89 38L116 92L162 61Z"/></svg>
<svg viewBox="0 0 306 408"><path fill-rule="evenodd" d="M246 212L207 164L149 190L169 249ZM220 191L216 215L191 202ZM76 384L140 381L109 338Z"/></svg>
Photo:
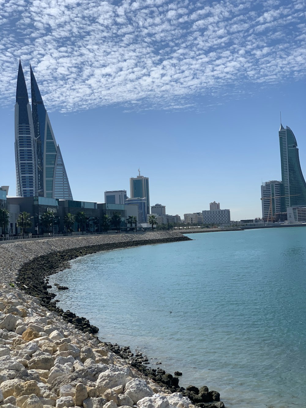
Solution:
<svg viewBox="0 0 306 408"><path fill-rule="evenodd" d="M15 162L16 195L19 197L37 195L38 167L33 118L20 60L15 104Z"/></svg>

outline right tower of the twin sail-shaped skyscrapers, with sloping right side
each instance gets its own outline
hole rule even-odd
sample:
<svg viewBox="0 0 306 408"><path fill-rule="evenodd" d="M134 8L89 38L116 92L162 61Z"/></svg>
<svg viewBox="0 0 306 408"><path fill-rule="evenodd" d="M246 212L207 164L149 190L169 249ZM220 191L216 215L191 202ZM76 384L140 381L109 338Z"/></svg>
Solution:
<svg viewBox="0 0 306 408"><path fill-rule="evenodd" d="M49 116L31 66L30 70L32 116L37 151L38 195L73 200L60 146L56 144Z"/></svg>

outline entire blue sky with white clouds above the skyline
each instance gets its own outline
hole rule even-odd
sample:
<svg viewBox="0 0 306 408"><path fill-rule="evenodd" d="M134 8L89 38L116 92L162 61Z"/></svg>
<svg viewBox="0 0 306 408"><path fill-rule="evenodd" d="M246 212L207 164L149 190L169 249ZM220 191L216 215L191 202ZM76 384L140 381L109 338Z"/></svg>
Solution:
<svg viewBox="0 0 306 408"><path fill-rule="evenodd" d="M29 64L75 200L149 177L150 204L261 217L278 130L306 175L304 0L0 0L0 185L15 195L14 104Z"/></svg>

